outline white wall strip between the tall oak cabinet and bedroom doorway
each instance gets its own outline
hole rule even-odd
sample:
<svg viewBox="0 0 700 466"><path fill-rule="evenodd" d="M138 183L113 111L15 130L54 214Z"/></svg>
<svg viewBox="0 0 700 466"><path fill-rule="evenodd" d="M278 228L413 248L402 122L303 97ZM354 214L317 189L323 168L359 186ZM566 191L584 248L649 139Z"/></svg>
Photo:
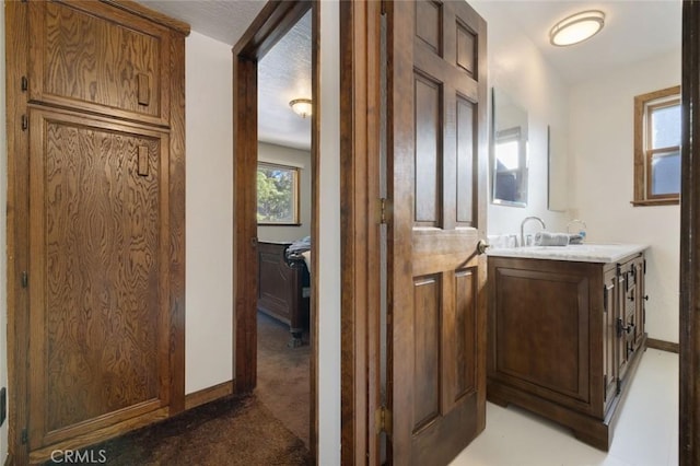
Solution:
<svg viewBox="0 0 700 466"><path fill-rule="evenodd" d="M186 40L185 392L233 374L231 46Z"/></svg>

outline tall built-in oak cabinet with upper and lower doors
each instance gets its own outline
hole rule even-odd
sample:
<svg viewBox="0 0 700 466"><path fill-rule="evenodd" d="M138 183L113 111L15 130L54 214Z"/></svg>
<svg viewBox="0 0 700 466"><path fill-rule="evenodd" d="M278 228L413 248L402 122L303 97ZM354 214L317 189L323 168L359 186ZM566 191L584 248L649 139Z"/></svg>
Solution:
<svg viewBox="0 0 700 466"><path fill-rule="evenodd" d="M7 7L23 463L184 409L188 26L133 2Z"/></svg>

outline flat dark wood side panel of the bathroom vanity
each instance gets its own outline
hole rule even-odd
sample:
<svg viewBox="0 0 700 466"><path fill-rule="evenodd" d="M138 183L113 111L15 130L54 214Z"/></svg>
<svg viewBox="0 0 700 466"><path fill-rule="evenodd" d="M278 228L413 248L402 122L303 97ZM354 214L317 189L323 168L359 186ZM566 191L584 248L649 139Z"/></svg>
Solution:
<svg viewBox="0 0 700 466"><path fill-rule="evenodd" d="M533 393L587 407L588 278L499 267L492 279L498 283L491 317L493 375Z"/></svg>

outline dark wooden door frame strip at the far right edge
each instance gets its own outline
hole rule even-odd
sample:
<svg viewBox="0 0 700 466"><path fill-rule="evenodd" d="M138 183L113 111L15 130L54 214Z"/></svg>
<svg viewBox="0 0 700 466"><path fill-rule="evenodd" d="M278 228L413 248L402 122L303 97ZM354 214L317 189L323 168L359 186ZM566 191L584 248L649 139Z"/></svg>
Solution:
<svg viewBox="0 0 700 466"><path fill-rule="evenodd" d="M679 464L700 464L700 2L682 5Z"/></svg>

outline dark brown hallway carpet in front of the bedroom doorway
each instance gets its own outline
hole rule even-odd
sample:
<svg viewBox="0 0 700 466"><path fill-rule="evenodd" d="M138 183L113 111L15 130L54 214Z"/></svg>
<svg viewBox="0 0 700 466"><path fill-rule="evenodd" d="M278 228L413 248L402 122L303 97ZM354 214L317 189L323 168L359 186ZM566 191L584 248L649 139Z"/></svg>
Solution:
<svg viewBox="0 0 700 466"><path fill-rule="evenodd" d="M304 443L255 396L217 400L86 451L119 466L311 464Z"/></svg>

